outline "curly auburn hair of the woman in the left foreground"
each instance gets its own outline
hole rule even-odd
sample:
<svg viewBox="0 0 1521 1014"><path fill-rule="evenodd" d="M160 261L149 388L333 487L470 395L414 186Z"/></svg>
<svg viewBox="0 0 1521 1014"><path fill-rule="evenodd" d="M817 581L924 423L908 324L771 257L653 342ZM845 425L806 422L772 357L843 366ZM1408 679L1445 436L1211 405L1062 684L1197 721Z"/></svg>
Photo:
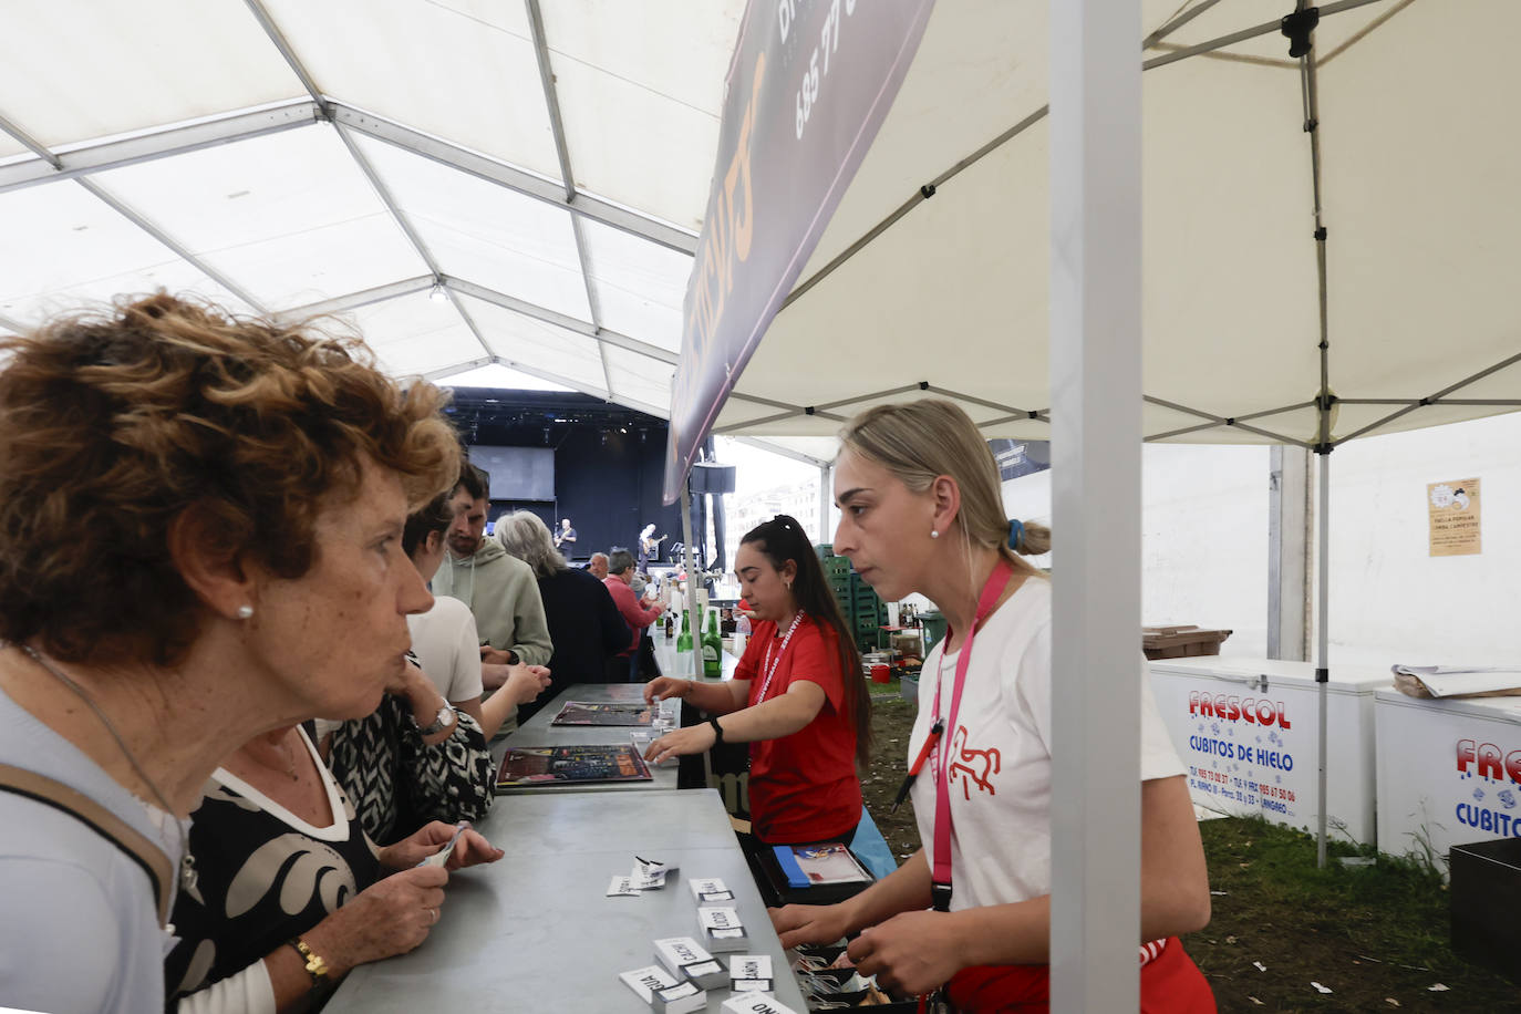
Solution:
<svg viewBox="0 0 1521 1014"><path fill-rule="evenodd" d="M351 337L158 293L0 341L0 639L62 661L169 666L199 629L169 550L190 506L218 552L280 578L315 559L365 461L417 508L453 485L444 394Z"/></svg>

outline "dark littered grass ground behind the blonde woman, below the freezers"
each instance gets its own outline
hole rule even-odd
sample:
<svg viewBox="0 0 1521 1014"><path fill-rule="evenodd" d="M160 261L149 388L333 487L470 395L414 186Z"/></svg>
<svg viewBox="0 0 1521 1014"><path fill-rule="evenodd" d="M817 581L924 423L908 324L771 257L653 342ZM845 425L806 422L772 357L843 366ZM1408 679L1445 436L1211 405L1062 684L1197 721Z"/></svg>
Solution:
<svg viewBox="0 0 1521 1014"><path fill-rule="evenodd" d="M919 848L913 806L888 810L903 777L914 707L896 696L896 684L893 696L879 689L876 749L862 789L902 862ZM1317 870L1313 838L1256 819L1205 821L1200 833L1214 917L1183 944L1220 1011L1521 1012L1521 981L1453 953L1446 886L1433 871L1387 856L1345 867L1337 857L1363 853L1338 842L1328 867Z"/></svg>

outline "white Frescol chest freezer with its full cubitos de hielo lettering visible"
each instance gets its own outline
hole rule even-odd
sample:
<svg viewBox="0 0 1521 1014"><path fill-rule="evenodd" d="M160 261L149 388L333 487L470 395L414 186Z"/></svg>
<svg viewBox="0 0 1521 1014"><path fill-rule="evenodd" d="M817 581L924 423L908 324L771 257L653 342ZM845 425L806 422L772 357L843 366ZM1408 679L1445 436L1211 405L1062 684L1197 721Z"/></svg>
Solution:
<svg viewBox="0 0 1521 1014"><path fill-rule="evenodd" d="M1331 666L1326 684L1326 829L1373 842L1373 692L1389 669ZM1151 663L1151 687L1194 803L1313 832L1320 739L1308 661L1203 655Z"/></svg>

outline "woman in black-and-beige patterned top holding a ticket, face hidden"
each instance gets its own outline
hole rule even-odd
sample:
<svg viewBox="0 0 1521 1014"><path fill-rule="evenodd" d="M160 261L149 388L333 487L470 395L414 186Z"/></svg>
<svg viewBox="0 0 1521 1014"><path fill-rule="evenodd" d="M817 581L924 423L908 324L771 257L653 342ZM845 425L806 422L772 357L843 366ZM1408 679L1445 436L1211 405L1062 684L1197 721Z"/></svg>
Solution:
<svg viewBox="0 0 1521 1014"><path fill-rule="evenodd" d="M307 1009L354 965L417 947L450 870L502 857L465 822L376 848L301 727L243 743L190 824L195 891L164 961L179 1014Z"/></svg>

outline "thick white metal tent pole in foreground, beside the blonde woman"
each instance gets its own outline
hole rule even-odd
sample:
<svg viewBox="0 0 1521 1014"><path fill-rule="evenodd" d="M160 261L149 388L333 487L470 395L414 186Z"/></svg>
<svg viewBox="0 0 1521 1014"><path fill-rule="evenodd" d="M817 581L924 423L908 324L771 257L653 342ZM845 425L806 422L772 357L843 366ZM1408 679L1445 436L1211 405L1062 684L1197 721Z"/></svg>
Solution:
<svg viewBox="0 0 1521 1014"><path fill-rule="evenodd" d="M1051 8L1051 1011L1135 1011L1141 5Z"/></svg>

